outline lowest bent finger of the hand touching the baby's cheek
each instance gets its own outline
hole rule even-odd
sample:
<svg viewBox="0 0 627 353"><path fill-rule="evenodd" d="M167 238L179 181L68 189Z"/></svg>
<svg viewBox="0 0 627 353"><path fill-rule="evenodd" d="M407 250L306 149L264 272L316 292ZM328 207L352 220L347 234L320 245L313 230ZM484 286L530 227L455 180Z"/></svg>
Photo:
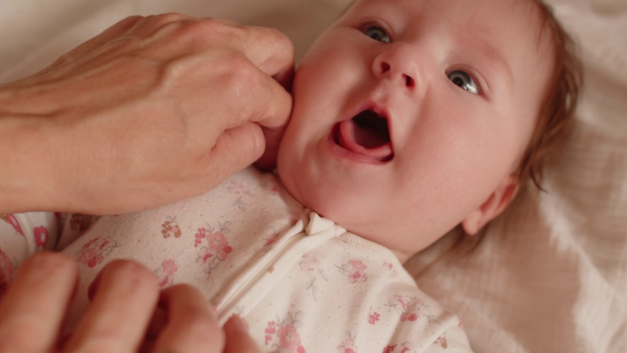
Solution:
<svg viewBox="0 0 627 353"><path fill-rule="evenodd" d="M209 153L208 180L221 183L251 165L263 154L265 138L255 122L245 122L221 134Z"/></svg>

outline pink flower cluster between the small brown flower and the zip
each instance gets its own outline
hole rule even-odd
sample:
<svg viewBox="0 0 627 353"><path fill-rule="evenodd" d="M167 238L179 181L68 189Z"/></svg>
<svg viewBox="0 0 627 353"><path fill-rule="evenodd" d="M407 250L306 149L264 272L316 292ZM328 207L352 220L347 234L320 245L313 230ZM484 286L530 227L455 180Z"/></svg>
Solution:
<svg viewBox="0 0 627 353"><path fill-rule="evenodd" d="M231 222L219 224L219 231L207 225L207 228L199 228L194 239L194 247L201 246L203 241L205 245L200 247L196 263L201 264L207 273L216 268L221 261L226 260L228 254L233 251L224 236L229 232Z"/></svg>

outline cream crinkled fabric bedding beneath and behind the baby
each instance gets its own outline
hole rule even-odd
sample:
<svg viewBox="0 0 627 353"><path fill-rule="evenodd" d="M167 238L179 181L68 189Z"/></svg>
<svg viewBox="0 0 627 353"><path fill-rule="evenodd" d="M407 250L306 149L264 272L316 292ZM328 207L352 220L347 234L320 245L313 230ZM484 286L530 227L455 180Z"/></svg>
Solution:
<svg viewBox="0 0 627 353"><path fill-rule="evenodd" d="M350 0L3 0L0 82L24 77L130 14L176 11L273 26L297 60ZM627 352L627 1L551 0L585 66L577 124L547 173L480 246L406 265L460 315L478 352Z"/></svg>

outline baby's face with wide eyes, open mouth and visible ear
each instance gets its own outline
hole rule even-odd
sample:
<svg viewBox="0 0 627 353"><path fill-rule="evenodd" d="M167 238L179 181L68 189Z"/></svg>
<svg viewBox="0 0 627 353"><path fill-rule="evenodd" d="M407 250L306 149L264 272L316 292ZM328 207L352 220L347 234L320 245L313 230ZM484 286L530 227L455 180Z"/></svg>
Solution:
<svg viewBox="0 0 627 353"><path fill-rule="evenodd" d="M298 68L280 178L401 258L476 230L516 186L552 65L540 28L525 0L358 1Z"/></svg>

